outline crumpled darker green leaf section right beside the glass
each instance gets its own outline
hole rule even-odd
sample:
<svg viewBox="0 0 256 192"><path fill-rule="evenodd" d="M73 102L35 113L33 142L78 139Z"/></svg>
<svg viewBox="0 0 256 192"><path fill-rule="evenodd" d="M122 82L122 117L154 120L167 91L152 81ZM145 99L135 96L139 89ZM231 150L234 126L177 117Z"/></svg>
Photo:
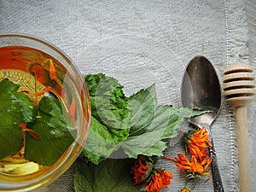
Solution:
<svg viewBox="0 0 256 192"><path fill-rule="evenodd" d="M108 127L116 142L124 141L129 135L129 99L123 93L123 86L117 79L102 73L84 76L89 84L91 115Z"/></svg>

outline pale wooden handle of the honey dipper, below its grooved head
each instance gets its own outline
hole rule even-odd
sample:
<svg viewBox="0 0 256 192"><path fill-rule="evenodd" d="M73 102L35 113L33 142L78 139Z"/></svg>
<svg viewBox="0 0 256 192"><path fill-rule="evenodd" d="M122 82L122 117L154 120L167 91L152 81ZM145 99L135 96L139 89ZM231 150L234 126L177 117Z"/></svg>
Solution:
<svg viewBox="0 0 256 192"><path fill-rule="evenodd" d="M239 152L239 185L241 192L251 192L251 166L248 144L247 107L236 107L237 144Z"/></svg>

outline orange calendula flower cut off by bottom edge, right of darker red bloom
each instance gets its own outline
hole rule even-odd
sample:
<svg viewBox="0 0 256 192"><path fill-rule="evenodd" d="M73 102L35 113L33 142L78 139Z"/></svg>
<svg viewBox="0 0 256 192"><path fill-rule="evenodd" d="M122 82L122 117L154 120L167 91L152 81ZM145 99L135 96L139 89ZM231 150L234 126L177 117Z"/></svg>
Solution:
<svg viewBox="0 0 256 192"><path fill-rule="evenodd" d="M169 184L171 184L171 179L171 172L162 172L159 170L152 174L150 182L145 189L147 192L159 192L160 189L166 188Z"/></svg>

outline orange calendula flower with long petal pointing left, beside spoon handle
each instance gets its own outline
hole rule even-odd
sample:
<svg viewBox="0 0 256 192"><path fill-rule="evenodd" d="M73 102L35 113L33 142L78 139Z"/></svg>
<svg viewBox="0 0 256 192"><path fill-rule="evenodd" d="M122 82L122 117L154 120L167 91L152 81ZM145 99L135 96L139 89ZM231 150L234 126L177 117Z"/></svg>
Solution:
<svg viewBox="0 0 256 192"><path fill-rule="evenodd" d="M169 157L164 157L166 160L172 160L176 162L176 166L180 170L184 170L187 172L187 177L189 179L191 178L196 178L196 177L204 177L207 176L209 178L211 177L209 172L206 172L208 166L212 162L212 158L205 158L203 160L199 160L198 158L195 157L195 155L192 155L191 161L187 159L183 154L177 154L178 157L175 159L169 158ZM206 182L207 182L206 181Z"/></svg>

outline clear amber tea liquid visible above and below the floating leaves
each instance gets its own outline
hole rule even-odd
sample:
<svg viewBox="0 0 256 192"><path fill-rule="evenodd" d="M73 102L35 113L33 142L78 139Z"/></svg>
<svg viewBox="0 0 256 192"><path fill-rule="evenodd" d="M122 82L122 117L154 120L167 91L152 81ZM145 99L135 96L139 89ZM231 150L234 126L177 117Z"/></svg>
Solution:
<svg viewBox="0 0 256 192"><path fill-rule="evenodd" d="M50 61L55 66L55 79L50 79L49 76ZM8 78L14 83L20 84L19 91L29 96L31 102L35 105L43 97L36 96L35 84L37 84L37 92L50 87L49 93L61 100L64 106L67 105L68 98L63 89L63 79L66 73L67 69L59 61L38 49L21 46L0 48L0 81ZM15 141L13 142L15 143ZM0 160L0 176L17 177L38 171L48 172L49 167L25 160L24 153L26 153L26 149L24 150L24 147L22 147L19 153Z"/></svg>

